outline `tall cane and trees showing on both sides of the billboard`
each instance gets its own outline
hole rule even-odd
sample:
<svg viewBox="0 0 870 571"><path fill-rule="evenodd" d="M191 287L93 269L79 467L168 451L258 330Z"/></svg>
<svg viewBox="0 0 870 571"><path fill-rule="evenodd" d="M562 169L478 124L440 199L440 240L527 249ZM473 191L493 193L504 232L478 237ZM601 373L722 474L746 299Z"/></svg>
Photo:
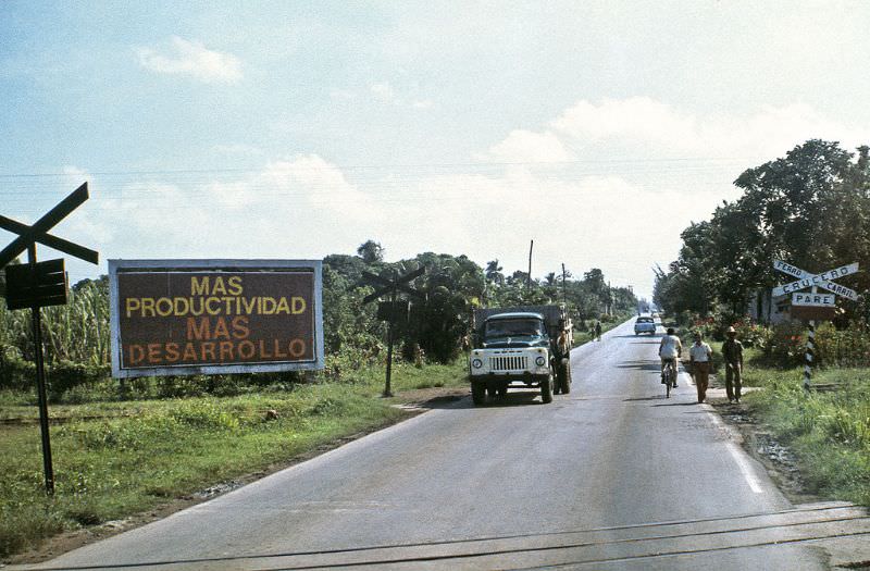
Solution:
<svg viewBox="0 0 870 571"><path fill-rule="evenodd" d="M424 297L409 303L397 326L399 355L408 360L425 358L449 362L467 348L471 314L475 307L564 302L572 316L599 319L607 308L631 311L637 300L627 288L610 288L604 273L589 270L581 280L551 272L530 280L525 272L506 275L498 260L485 268L467 256L425 252L388 263L383 247L368 240L356 256L331 255L323 260L323 330L327 368L371 362L382 358L386 324L377 319L377 303L363 303L373 287L363 272L389 276L424 266L413 286ZM102 369L110 363L109 281L107 276L75 284L65 306L42 309L42 337L49 365L75 363ZM34 359L28 311L9 311L0 301L0 387L29 383L22 368ZM70 374L80 372L73 369ZM22 376L12 383L12 376ZM74 382L74 380L71 380Z"/></svg>

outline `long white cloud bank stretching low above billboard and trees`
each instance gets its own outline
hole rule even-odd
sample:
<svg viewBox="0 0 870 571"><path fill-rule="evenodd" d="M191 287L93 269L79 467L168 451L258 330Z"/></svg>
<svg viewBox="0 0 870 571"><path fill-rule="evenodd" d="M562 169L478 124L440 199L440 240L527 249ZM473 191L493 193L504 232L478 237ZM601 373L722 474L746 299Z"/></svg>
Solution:
<svg viewBox="0 0 870 571"><path fill-rule="evenodd" d="M536 276L561 263L575 275L600 268L613 285L649 296L650 268L675 259L692 221L739 196L731 181L743 169L782 157L806 135L861 133L805 105L696 117L651 99L580 102L539 131L510 132L481 154L489 164L426 175L297 154L229 181L125 187L100 223L119 228L107 257L316 258L372 238L389 260L465 253L480 264L498 258L508 272L525 268L534 239ZM651 167L632 162L638 147ZM673 162L676 151L697 160ZM725 166L703 160L749 151L765 154ZM567 164L539 166L555 161Z"/></svg>

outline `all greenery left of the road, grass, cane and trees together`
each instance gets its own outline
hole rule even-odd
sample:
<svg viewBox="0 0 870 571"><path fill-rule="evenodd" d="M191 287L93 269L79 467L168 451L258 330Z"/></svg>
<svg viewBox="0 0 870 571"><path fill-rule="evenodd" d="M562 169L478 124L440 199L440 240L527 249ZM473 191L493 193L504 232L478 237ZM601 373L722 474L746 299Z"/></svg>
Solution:
<svg viewBox="0 0 870 571"><path fill-rule="evenodd" d="M110 376L108 281L76 284L66 306L42 310L55 495L47 497L28 311L0 301L0 557L64 531L122 520L209 488L249 481L413 412L417 389L467 387L464 351L475 307L566 302L588 339L637 305L600 270L506 275L464 256L422 253L386 263L369 240L324 259L325 368L318 372L133 378ZM426 294L397 324L393 398L383 398L386 325L363 272L426 266ZM613 315L605 315L610 307Z"/></svg>

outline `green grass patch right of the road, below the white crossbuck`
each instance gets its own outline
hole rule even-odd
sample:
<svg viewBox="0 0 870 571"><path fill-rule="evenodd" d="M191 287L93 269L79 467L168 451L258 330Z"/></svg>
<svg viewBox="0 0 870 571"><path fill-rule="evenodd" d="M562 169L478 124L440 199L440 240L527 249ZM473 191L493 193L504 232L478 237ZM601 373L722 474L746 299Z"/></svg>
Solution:
<svg viewBox="0 0 870 571"><path fill-rule="evenodd" d="M803 389L803 369L748 367L746 385L760 386L744 401L788 446L810 492L870 506L870 370L829 369Z"/></svg>

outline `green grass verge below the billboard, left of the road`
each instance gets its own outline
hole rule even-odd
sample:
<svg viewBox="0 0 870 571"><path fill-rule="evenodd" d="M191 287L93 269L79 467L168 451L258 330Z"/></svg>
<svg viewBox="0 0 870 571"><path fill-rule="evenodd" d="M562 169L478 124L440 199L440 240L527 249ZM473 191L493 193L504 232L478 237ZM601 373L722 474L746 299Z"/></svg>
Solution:
<svg viewBox="0 0 870 571"><path fill-rule="evenodd" d="M407 415L402 390L464 386L465 363L398 364L343 382L234 397L52 406L55 495L45 494L39 427L0 426L0 557L63 531L153 509L215 483L289 462L324 444ZM29 395L0 395L0 418L33 421ZM266 420L266 411L277 419Z"/></svg>

